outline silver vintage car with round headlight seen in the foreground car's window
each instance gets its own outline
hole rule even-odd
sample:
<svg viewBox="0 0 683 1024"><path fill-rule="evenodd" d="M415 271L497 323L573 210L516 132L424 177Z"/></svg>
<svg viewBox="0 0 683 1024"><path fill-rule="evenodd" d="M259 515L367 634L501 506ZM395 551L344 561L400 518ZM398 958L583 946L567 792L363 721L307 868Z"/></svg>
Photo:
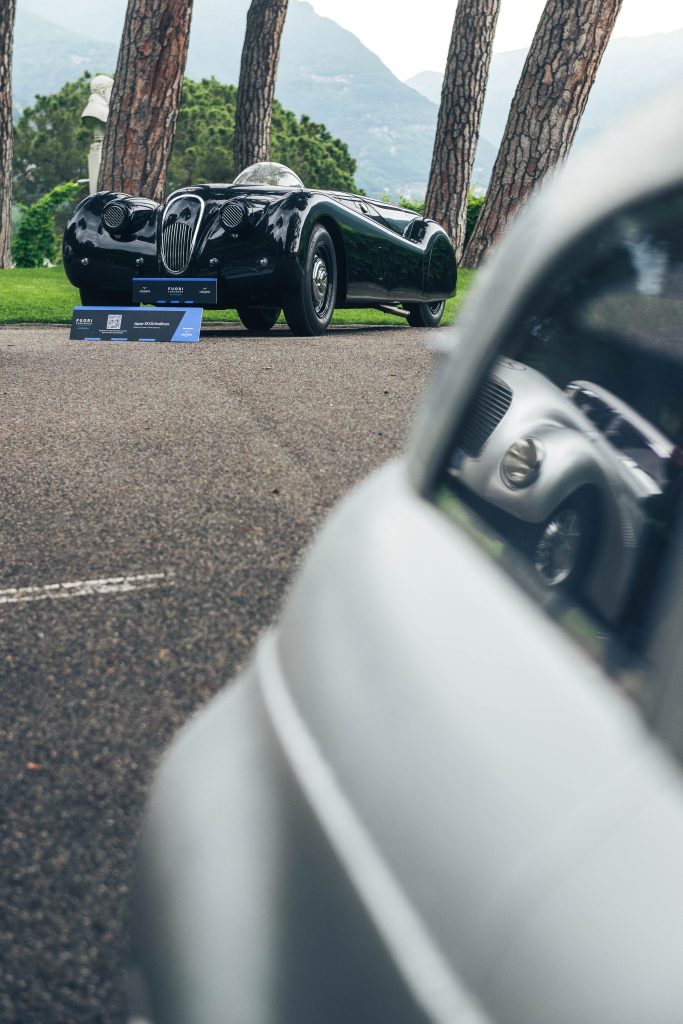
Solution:
<svg viewBox="0 0 683 1024"><path fill-rule="evenodd" d="M652 510L664 512L678 481L674 456L605 388L560 388L503 358L461 424L449 473L541 582L571 588L613 623L639 583Z"/></svg>

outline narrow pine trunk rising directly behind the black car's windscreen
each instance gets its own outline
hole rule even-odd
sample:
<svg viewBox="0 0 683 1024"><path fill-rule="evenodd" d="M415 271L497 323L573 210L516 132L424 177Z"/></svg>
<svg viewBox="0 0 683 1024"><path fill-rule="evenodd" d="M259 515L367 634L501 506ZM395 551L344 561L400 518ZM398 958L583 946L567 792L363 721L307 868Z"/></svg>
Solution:
<svg viewBox="0 0 683 1024"><path fill-rule="evenodd" d="M242 50L234 118L234 173L267 160L270 120L288 0L252 0Z"/></svg>

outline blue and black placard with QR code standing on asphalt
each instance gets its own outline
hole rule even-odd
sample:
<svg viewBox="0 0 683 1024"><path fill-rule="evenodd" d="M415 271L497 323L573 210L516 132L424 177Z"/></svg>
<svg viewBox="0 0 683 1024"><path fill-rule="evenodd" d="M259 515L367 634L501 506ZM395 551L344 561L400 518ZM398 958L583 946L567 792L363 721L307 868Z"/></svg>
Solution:
<svg viewBox="0 0 683 1024"><path fill-rule="evenodd" d="M199 341L203 309L75 306L71 338L80 341Z"/></svg>

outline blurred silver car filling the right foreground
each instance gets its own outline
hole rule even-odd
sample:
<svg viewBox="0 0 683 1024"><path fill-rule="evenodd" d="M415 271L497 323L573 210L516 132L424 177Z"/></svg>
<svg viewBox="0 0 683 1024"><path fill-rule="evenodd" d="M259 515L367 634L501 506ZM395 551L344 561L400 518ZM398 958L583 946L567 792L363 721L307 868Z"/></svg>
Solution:
<svg viewBox="0 0 683 1024"><path fill-rule="evenodd" d="M683 1019L682 108L529 204L407 456L335 512L244 674L173 744L141 843L136 1020ZM574 423L571 388L601 389L660 438L659 493L609 496L592 589L548 586L475 458L453 473L500 359ZM519 444L511 479L541 481L538 457Z"/></svg>

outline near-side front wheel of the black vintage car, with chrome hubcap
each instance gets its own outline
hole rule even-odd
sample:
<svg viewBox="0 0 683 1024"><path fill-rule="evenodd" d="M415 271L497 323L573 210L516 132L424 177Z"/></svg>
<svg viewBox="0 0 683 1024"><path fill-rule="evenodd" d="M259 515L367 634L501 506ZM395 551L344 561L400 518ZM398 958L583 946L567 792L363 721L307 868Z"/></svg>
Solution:
<svg viewBox="0 0 683 1024"><path fill-rule="evenodd" d="M325 334L335 310L337 258L332 239L318 224L308 243L303 274L283 303L285 319L294 334Z"/></svg>

